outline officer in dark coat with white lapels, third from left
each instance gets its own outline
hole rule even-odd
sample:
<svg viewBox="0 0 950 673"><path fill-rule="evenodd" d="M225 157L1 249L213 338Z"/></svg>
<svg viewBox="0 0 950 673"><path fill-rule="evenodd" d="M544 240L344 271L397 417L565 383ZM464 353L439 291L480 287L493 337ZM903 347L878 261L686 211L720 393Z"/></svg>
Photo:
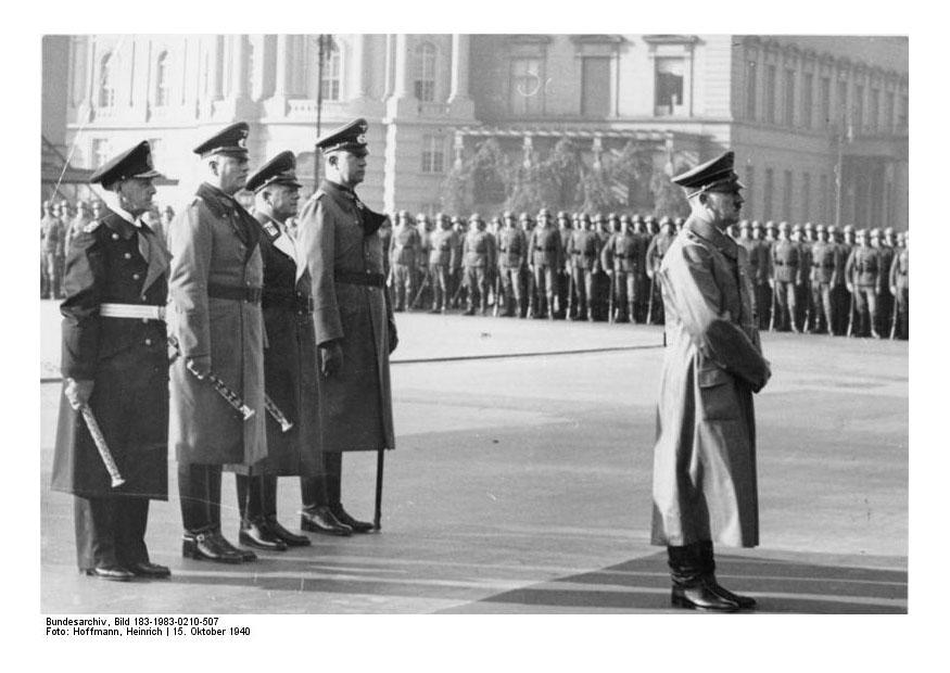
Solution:
<svg viewBox="0 0 950 673"><path fill-rule="evenodd" d="M261 309L267 343L264 347L264 384L270 401L283 414L268 414L267 458L252 475L238 474L240 542L258 549L282 551L311 544L305 535L288 531L277 520L277 478L300 477L303 500L308 488L326 493L322 444L317 416L317 344L314 334L314 301L306 262L287 228L297 213L301 183L293 152L281 152L248 178L245 189L254 194L254 219L261 225L264 285ZM320 512L304 510L304 530L349 534L327 505Z"/></svg>

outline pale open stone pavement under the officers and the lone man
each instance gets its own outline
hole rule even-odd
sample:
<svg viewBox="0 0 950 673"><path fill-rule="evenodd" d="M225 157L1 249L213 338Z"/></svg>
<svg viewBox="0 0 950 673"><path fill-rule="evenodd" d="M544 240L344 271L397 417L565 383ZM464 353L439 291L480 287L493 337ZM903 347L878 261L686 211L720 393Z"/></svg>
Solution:
<svg viewBox="0 0 950 673"><path fill-rule="evenodd" d="M648 544L661 331L397 320L397 448L387 455L382 532L312 535L313 547L238 567L183 560L173 464L170 500L152 504L149 528L153 559L173 569L165 582L76 572L71 498L49 491L59 385L42 385L41 611L669 611L663 554ZM43 329L46 344L55 328ZM763 341L775 373L757 398L762 546L720 549L720 577L756 595L762 612L905 612L907 343ZM465 359L518 353L531 355ZM344 462L344 503L369 518L375 456ZM281 479L290 528L299 497ZM235 498L226 475L224 504ZM236 539L235 509L224 519Z"/></svg>

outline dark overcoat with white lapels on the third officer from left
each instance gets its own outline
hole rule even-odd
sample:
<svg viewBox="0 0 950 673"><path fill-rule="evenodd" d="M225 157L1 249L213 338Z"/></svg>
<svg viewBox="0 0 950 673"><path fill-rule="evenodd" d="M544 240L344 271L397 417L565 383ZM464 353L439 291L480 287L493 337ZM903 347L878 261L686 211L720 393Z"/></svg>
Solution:
<svg viewBox="0 0 950 673"><path fill-rule="evenodd" d="M264 258L264 381L270 399L293 423L283 432L267 417L267 460L270 474L314 475L320 471L320 428L317 414L317 344L314 335L311 275L297 277L294 242L263 213L261 254Z"/></svg>

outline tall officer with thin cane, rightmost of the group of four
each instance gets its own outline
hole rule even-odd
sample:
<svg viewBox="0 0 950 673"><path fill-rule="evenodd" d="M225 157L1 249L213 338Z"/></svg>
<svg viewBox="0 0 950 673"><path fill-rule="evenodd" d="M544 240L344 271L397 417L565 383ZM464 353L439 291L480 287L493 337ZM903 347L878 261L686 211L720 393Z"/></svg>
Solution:
<svg viewBox="0 0 950 673"><path fill-rule="evenodd" d="M378 232L384 216L353 191L366 175L366 120L355 119L317 141L326 177L299 225L313 278L327 479L326 493L313 494L320 499L308 501L305 494L305 511L326 505L354 533L375 526L343 509L342 454L395 448L389 356L398 343Z"/></svg>

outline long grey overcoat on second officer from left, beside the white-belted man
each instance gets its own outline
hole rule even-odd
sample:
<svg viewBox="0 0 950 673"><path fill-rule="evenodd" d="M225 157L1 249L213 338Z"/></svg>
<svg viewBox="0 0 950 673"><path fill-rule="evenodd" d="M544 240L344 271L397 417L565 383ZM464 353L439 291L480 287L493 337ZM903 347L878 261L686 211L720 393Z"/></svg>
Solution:
<svg viewBox="0 0 950 673"><path fill-rule="evenodd" d="M183 356L172 366L169 446L179 462L253 465L267 455L261 305L208 296L208 285L262 287L261 227L205 183L168 229L168 327ZM186 369L187 357L210 357L214 374L254 416L242 420L207 379Z"/></svg>

